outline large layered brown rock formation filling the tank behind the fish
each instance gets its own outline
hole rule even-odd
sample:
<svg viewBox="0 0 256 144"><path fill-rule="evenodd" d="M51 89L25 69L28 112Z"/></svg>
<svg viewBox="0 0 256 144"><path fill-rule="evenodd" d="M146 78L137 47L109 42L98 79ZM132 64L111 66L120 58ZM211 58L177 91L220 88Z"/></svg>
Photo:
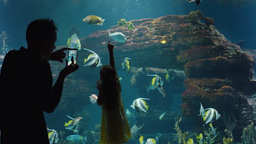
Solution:
<svg viewBox="0 0 256 144"><path fill-rule="evenodd" d="M156 122L154 119L151 121L150 119L152 119L152 116L155 119L159 117L159 113L156 112L162 113L166 109L170 110L172 98L168 94L172 94L172 91L183 92L182 112L185 116L193 118L197 125L196 129L202 128L202 119L199 120L199 117L197 117L200 102L202 102L203 106L213 107L219 111L220 115L223 114L224 110L234 112L236 127L233 134L235 137L241 137L241 135L238 135L246 127L245 124L253 121L251 117L252 106L246 102L245 94L250 95L256 92L256 81L252 80L254 60L248 53L243 52L240 46L227 40L213 26L213 19L205 17L205 23L201 23L203 19L201 11L193 11L188 16L166 15L158 19L132 20L129 22L132 22L135 28L131 31L125 27L115 25L110 29L95 31L88 37L81 38L80 41L82 49L95 51L101 57L101 62L104 65L109 63L107 43L110 39L108 30L121 32L127 36L124 43L111 41L115 46L116 68L121 69L120 63L123 62L125 57L131 58L131 70L129 71L132 74L131 85L139 88L139 97L152 98L152 101L156 103L154 107L154 104L150 104L153 103L152 101L147 101L149 106L152 106L148 113L142 113L138 117L139 122L148 122L148 125L152 125L149 122L154 122L155 125L158 125L160 122ZM83 60L88 55L88 52L80 50L78 64L83 65ZM184 70L184 77L187 79L184 81L185 78L177 76L179 77L177 81L174 78L173 83L165 82L163 87L168 99L163 100L158 91L150 91L147 94L144 87L150 83L150 79L147 79L145 75L143 76L142 67L152 68L149 69L149 74L158 74L162 79L165 78L166 71L170 69ZM68 105L63 107L69 107L74 111L73 105L69 106L70 100L82 98L85 93L96 93L96 89L92 87L99 77L99 70L100 68L89 70L80 67L79 71L72 74L72 80L80 81L83 85L72 82L65 85L71 87L74 85L75 89L79 89L81 97L74 93L70 93L73 96L66 95L67 99L64 98L64 101ZM186 87L185 92L183 81ZM69 97L70 99L68 99ZM75 105L75 107L82 107L82 105L89 104L89 100L77 103L78 105ZM154 109L155 111L153 111ZM167 112L166 118L169 116L170 113ZM218 119L214 122L215 126L218 127L218 130L221 130L225 127L225 124L221 119ZM146 130L154 131L154 129L149 128ZM159 128L155 128L155 130L159 130Z"/></svg>

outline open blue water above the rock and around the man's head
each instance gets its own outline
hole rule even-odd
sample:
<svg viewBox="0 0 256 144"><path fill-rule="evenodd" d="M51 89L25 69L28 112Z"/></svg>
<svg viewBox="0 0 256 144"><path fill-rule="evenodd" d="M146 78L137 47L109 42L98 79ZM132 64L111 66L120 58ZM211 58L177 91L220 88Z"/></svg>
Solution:
<svg viewBox="0 0 256 144"><path fill-rule="evenodd" d="M205 16L215 20L217 29L229 40L245 39L245 46L254 49L255 2L242 1L240 4L236 3L238 0L233 0L234 2L225 4L221 1L205 0L199 5L185 0L9 0L7 4L0 1L0 31L6 31L9 34L9 45L12 49L18 49L20 45L26 46L25 32L28 23L34 19L50 17L59 28L56 45L64 45L68 31L73 26L77 26L82 36L86 37L96 30L117 25L117 21L122 18L129 21L164 15L187 15L190 11L199 9ZM86 25L82 20L87 15L97 15L106 21L103 26Z"/></svg>

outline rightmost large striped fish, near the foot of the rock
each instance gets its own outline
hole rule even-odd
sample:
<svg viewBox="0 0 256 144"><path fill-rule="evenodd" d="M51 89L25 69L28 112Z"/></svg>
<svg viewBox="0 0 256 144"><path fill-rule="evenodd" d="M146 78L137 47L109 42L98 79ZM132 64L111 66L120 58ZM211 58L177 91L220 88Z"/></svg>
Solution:
<svg viewBox="0 0 256 144"><path fill-rule="evenodd" d="M202 104L200 107L200 115L202 116L205 124L214 122L220 117L220 115L216 109L209 108L209 109L204 110Z"/></svg>

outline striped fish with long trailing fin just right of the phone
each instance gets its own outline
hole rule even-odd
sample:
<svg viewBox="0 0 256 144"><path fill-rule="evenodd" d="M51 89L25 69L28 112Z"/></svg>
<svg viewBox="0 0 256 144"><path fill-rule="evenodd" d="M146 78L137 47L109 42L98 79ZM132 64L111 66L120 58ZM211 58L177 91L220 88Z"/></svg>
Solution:
<svg viewBox="0 0 256 144"><path fill-rule="evenodd" d="M94 51L88 51L92 52L92 54L89 55L87 59L84 59L84 66L91 66L91 68L100 67L102 65L100 56L98 56Z"/></svg>

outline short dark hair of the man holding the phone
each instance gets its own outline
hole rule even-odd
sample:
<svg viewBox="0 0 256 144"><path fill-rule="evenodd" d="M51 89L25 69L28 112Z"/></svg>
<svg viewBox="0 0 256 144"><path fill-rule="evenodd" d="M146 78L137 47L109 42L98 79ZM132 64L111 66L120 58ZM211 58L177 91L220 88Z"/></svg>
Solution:
<svg viewBox="0 0 256 144"><path fill-rule="evenodd" d="M51 38L55 31L57 27L53 20L49 18L34 20L27 26L27 44L36 44L42 39Z"/></svg>

